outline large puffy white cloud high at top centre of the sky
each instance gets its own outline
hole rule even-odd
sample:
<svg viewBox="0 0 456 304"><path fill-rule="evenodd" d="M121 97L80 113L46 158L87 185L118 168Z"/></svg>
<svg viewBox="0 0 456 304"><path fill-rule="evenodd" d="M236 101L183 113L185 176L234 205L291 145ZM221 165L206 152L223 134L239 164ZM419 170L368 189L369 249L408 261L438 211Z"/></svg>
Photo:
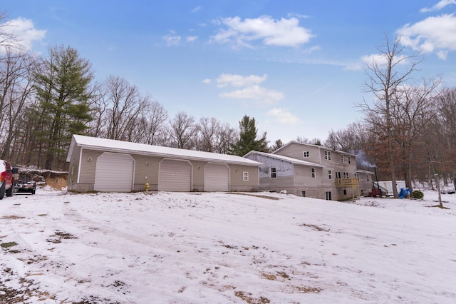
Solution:
<svg viewBox="0 0 456 304"><path fill-rule="evenodd" d="M299 26L299 19L272 19L260 16L256 19L242 19L239 16L219 19L216 23L227 26L213 37L219 43L232 43L237 47L254 47L254 41L267 46L299 46L314 37L309 29Z"/></svg>

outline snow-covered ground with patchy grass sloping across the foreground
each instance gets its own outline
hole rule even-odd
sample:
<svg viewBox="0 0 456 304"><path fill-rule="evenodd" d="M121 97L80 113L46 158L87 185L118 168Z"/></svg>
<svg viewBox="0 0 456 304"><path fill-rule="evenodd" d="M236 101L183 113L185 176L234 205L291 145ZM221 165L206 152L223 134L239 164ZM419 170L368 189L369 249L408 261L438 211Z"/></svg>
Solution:
<svg viewBox="0 0 456 304"><path fill-rule="evenodd" d="M456 194L0 201L0 303L455 303Z"/></svg>

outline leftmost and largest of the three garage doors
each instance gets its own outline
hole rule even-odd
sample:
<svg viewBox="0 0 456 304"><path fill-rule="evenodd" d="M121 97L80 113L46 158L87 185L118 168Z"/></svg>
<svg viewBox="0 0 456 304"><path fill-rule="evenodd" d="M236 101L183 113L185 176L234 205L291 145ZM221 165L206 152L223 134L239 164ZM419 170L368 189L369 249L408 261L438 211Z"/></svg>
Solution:
<svg viewBox="0 0 456 304"><path fill-rule="evenodd" d="M95 191L128 192L133 187L135 160L130 154L105 152L98 156Z"/></svg>

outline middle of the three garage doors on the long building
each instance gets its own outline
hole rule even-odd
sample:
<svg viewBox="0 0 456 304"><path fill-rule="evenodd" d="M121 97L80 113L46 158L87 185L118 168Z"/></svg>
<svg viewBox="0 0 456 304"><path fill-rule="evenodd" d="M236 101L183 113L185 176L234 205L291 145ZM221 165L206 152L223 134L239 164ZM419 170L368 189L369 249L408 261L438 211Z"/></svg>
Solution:
<svg viewBox="0 0 456 304"><path fill-rule="evenodd" d="M192 166L188 161L160 161L158 191L191 191Z"/></svg>

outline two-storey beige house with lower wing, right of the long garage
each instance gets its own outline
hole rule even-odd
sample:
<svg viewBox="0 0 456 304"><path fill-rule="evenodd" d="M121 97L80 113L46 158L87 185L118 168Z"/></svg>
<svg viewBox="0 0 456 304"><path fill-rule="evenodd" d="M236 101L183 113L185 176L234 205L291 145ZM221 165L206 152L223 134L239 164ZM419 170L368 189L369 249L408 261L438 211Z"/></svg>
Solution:
<svg viewBox="0 0 456 304"><path fill-rule="evenodd" d="M356 155L291 141L272 153L251 151L245 158L263 163L259 189L344 201L360 195Z"/></svg>

